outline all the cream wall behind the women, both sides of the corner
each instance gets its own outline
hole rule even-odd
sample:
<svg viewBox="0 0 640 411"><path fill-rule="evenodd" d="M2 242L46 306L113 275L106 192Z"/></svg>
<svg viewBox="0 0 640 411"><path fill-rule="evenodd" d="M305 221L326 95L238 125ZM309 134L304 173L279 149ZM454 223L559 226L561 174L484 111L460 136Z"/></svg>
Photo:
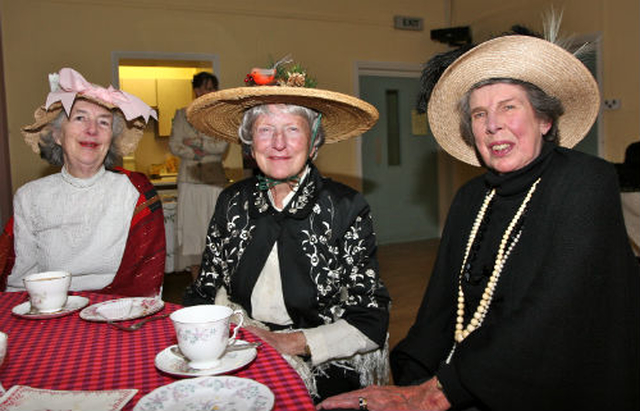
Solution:
<svg viewBox="0 0 640 411"><path fill-rule="evenodd" d="M356 61L423 63L446 46L429 30L470 25L475 41L513 24L540 28L550 5L564 8L563 30L602 35L604 98L622 108L602 114L604 157L621 161L639 136L640 5L637 0L2 0L5 83L14 190L50 169L22 141L48 92L46 74L74 67L95 83L111 82L111 52L204 53L220 57L221 87L242 85L248 70L292 53L319 86L356 89ZM424 18L423 32L398 31L394 15ZM326 146L316 163L360 188L354 140ZM453 192L477 170L441 156L441 215Z"/></svg>

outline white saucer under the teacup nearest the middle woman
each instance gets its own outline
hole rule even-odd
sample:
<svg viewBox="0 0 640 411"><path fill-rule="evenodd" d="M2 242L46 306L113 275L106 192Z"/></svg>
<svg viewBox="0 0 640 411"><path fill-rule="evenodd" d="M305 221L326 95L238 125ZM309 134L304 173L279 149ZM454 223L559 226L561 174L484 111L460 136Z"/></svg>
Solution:
<svg viewBox="0 0 640 411"><path fill-rule="evenodd" d="M246 341L239 339L238 343L246 343ZM189 367L189 363L184 357L172 352L173 347L177 348L178 346L172 345L160 351L158 355L156 355L155 364L160 371L183 377L202 377L235 371L249 364L258 355L258 350L255 347L247 348L246 350L231 351L225 353L215 367L206 370L196 370Z"/></svg>

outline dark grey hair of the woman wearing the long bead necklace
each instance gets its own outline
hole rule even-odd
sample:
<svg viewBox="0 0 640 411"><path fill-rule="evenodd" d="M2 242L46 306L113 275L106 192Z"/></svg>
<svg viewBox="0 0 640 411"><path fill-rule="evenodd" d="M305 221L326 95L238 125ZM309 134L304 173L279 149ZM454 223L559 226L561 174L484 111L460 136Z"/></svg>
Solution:
<svg viewBox="0 0 640 411"><path fill-rule="evenodd" d="M462 135L464 142L470 147L475 146L475 139L473 137L473 130L471 127L471 108L469 107L471 93L480 87L498 83L514 84L524 89L536 117L551 123L551 128L542 136L542 138L545 141L558 144L560 137L558 119L562 114L564 114L562 102L558 98L548 95L533 83L508 77L494 77L479 81L474 84L469 91L464 94L464 96L462 96L462 99L460 99L460 103L458 104L458 111L460 112L460 134Z"/></svg>

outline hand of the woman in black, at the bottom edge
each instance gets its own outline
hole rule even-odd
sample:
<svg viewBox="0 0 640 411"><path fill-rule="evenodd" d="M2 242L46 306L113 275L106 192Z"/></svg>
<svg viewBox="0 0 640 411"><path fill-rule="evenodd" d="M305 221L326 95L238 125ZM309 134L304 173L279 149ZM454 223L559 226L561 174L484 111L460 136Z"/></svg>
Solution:
<svg viewBox="0 0 640 411"><path fill-rule="evenodd" d="M333 408L360 409L360 398L369 411L443 411L451 407L442 390L436 387L435 377L429 381L407 387L371 385L357 391L329 397L316 406L318 410Z"/></svg>

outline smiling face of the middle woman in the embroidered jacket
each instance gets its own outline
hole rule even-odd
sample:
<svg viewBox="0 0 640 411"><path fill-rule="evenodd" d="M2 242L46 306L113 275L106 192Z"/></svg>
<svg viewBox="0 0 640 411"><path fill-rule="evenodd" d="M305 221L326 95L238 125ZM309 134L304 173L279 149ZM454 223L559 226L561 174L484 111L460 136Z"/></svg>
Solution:
<svg viewBox="0 0 640 411"><path fill-rule="evenodd" d="M267 177L284 179L302 171L311 138L304 117L287 113L283 106L269 105L269 114L258 116L252 134L253 157Z"/></svg>

